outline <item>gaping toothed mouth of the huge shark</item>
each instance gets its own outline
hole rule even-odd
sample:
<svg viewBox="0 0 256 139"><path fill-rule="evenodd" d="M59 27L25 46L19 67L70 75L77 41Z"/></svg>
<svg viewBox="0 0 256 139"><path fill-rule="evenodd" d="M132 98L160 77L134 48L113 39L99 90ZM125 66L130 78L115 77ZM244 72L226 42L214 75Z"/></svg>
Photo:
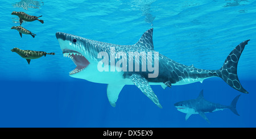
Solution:
<svg viewBox="0 0 256 139"><path fill-rule="evenodd" d="M82 56L81 53L76 52L75 50L64 49L63 57L71 58L71 60L76 65L76 68L69 72L70 75L79 73L80 71L84 70L90 64L90 62L88 60L86 60L86 58L84 56Z"/></svg>

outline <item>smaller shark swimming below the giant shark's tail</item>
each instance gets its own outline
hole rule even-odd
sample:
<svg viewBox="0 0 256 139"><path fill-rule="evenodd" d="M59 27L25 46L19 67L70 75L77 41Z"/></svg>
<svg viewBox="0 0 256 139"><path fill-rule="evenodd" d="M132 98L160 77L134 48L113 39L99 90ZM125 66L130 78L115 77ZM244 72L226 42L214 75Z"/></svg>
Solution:
<svg viewBox="0 0 256 139"><path fill-rule="evenodd" d="M239 114L237 113L236 104L240 95L236 96L236 98L233 99L230 106L224 106L205 100L202 90L196 99L177 102L174 104L174 106L177 108L178 111L187 113L187 115L185 116L185 120L188 120L189 116L191 116L192 114L199 114L201 117L203 117L203 119L210 123L208 118L205 116L205 113L220 111L229 108L234 114L239 116Z"/></svg>

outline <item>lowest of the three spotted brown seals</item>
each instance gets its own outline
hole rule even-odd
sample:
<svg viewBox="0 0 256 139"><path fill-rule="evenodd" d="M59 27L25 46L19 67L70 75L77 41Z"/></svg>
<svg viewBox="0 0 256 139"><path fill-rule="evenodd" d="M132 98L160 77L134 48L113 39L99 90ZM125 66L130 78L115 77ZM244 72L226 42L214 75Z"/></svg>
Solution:
<svg viewBox="0 0 256 139"><path fill-rule="evenodd" d="M55 55L55 53L46 53L43 51L35 51L35 50L22 50L19 48L13 48L11 49L11 52L16 52L21 56L22 58L25 58L27 60L27 63L30 64L30 61L32 59L37 59L42 56L46 56L46 54Z"/></svg>

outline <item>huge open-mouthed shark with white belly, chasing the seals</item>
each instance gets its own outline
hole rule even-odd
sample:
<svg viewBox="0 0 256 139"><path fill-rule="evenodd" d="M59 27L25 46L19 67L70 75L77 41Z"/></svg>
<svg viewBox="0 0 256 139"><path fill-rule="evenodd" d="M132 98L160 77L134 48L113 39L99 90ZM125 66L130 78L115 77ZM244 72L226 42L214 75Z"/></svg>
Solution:
<svg viewBox="0 0 256 139"><path fill-rule="evenodd" d="M90 82L108 84L107 96L113 107L115 107L119 92L125 85L136 85L160 108L162 106L150 85L160 85L165 89L167 86L186 85L203 82L204 79L210 77L220 77L233 89L248 93L238 79L237 64L249 40L237 45L220 69L205 70L197 69L193 65L179 64L156 52L152 33L153 28L147 30L133 45L103 43L63 32L56 32L56 38L63 56L71 58L76 65L69 75ZM136 52L141 55L130 57L131 53ZM134 66L136 64L141 65L139 69Z"/></svg>

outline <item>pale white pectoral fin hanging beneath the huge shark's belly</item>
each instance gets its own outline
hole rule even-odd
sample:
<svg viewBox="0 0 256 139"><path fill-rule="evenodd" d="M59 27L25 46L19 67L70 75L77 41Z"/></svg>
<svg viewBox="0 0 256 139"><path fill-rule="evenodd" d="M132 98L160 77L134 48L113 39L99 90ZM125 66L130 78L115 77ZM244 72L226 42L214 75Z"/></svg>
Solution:
<svg viewBox="0 0 256 139"><path fill-rule="evenodd" d="M111 106L115 107L115 102L117 102L118 95L123 89L123 86L125 85L115 85L115 84L109 84L107 87L107 96L109 99L109 103Z"/></svg>

